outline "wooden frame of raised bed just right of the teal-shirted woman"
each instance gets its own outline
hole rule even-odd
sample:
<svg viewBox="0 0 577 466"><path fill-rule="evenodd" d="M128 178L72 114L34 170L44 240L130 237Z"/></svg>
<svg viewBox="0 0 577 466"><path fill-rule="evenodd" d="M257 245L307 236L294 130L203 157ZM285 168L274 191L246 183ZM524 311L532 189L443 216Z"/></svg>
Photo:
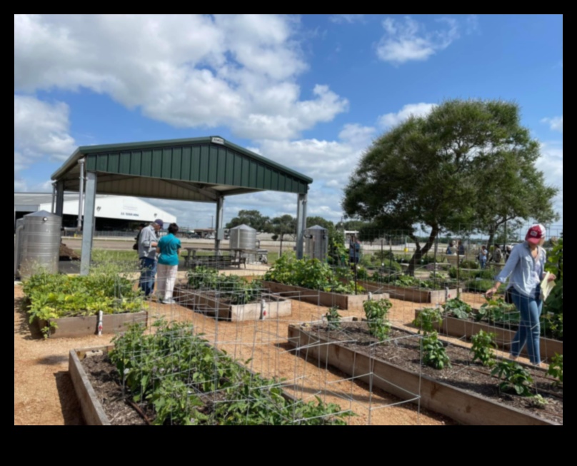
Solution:
<svg viewBox="0 0 577 466"><path fill-rule="evenodd" d="M292 315L291 300L264 294L256 303L233 305L217 295L218 292L194 290L186 285L174 288L176 301L191 310L214 315L219 320L244 322L246 320L268 320Z"/></svg>

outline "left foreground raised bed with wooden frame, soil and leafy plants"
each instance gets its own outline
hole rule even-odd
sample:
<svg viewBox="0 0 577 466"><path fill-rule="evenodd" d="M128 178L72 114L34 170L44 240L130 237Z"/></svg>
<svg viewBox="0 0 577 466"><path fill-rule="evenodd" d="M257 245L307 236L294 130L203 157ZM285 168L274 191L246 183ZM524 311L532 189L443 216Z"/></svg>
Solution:
<svg viewBox="0 0 577 466"><path fill-rule="evenodd" d="M69 370L86 424L346 425L351 414L338 405L291 397L191 331L161 323L154 335L132 328L115 347L72 350Z"/></svg>

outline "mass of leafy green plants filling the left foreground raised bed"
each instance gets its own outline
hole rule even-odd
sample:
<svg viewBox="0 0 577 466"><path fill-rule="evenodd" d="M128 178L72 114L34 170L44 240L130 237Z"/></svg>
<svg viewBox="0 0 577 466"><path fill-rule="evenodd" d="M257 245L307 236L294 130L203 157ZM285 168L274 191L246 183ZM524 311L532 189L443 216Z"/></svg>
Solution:
<svg viewBox="0 0 577 466"><path fill-rule="evenodd" d="M155 425L346 425L353 415L320 399L287 400L281 381L250 373L189 323L159 320L150 334L133 325L113 343L121 383Z"/></svg>

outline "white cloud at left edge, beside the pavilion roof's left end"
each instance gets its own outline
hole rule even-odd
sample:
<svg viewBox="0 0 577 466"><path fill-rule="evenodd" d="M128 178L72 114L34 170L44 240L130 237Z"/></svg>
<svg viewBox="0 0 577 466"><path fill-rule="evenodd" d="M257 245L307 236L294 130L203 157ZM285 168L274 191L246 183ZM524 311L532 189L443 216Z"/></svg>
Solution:
<svg viewBox="0 0 577 466"><path fill-rule="evenodd" d="M20 172L42 158L64 161L76 149L69 134L69 108L14 95L14 189L24 191Z"/></svg>

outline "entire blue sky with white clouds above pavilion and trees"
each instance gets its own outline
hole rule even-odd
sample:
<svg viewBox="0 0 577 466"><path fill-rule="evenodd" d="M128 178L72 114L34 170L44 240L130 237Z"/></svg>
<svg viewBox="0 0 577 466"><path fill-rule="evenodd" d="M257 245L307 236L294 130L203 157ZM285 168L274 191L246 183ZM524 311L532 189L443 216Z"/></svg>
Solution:
<svg viewBox="0 0 577 466"><path fill-rule="evenodd" d="M371 141L446 98L521 106L562 217L562 15L14 15L14 191L49 191L78 146L219 135L314 178L309 215L336 221Z"/></svg>

